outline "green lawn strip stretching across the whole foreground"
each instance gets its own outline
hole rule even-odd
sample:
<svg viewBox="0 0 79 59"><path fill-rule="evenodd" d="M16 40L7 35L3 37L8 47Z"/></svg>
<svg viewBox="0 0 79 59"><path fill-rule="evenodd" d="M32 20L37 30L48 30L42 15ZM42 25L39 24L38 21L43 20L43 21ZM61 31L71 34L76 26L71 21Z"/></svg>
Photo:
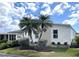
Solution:
<svg viewBox="0 0 79 59"><path fill-rule="evenodd" d="M75 57L79 56L79 48L53 48L52 51L34 51L34 50L17 50L15 48L8 48L0 50L1 53L18 54L32 57Z"/></svg>

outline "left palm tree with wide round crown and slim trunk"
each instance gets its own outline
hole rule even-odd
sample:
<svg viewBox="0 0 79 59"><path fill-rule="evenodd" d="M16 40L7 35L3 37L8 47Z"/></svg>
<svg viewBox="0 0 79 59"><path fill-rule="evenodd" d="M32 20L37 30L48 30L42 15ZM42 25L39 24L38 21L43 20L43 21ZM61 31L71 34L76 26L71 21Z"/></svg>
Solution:
<svg viewBox="0 0 79 59"><path fill-rule="evenodd" d="M35 19L31 19L28 17L23 17L19 23L19 26L22 29L22 31L28 33L28 36L30 36L32 43L33 43L32 33L36 34L37 29L38 29L38 25L36 25L36 24L38 24L38 23Z"/></svg>

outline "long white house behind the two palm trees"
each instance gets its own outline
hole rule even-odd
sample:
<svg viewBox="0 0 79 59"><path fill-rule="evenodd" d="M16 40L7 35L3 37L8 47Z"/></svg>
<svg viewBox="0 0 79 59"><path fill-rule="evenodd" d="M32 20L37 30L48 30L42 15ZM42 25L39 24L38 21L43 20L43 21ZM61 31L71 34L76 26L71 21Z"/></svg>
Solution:
<svg viewBox="0 0 79 59"><path fill-rule="evenodd" d="M1 36L3 35L3 36ZM6 36L7 35L7 36ZM13 40L15 38L16 40L20 40L23 38L30 38L27 33L22 32L20 30L18 31L12 31L8 33L0 33L0 38L7 38L8 40ZM68 44L71 45L72 40L76 36L76 31L67 24L53 24L52 27L49 27L46 32L43 32L43 35L41 37L41 40L47 40L47 45L53 45L53 44ZM32 34L33 41L37 42L38 37L35 37L34 34Z"/></svg>

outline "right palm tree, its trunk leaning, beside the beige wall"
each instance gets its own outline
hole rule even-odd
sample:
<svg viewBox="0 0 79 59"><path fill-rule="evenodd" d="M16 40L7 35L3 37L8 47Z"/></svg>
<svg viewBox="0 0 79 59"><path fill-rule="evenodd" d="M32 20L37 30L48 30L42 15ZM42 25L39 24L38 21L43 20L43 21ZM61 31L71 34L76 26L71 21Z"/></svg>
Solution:
<svg viewBox="0 0 79 59"><path fill-rule="evenodd" d="M48 27L52 27L52 22L49 20L48 15L40 15L39 24L40 24L40 26L39 26L40 27L39 41L40 41L43 32L47 31Z"/></svg>

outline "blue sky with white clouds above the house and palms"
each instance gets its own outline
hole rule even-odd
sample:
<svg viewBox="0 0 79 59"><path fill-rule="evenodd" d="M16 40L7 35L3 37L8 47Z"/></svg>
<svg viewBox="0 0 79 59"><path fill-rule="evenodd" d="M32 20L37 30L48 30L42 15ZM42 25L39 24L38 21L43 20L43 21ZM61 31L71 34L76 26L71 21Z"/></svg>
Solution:
<svg viewBox="0 0 79 59"><path fill-rule="evenodd" d="M0 3L0 32L20 29L23 16L49 15L53 23L70 24L79 32L79 2L4 2Z"/></svg>

